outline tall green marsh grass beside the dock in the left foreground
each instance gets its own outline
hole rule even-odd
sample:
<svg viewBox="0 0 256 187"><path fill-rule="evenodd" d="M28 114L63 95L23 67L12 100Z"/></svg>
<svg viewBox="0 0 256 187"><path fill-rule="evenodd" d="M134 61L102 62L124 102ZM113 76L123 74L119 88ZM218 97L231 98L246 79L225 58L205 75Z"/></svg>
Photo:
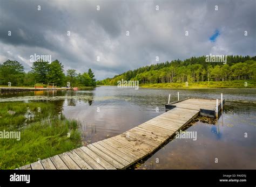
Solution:
<svg viewBox="0 0 256 187"><path fill-rule="evenodd" d="M29 123L24 117L28 107L31 113L36 113ZM38 107L41 107L41 113L37 112ZM16 113L6 114L8 110ZM50 103L5 102L0 103L0 112L0 131L21 131L19 141L0 139L0 169L15 169L82 144L80 123L62 115L53 116L55 110Z"/></svg>

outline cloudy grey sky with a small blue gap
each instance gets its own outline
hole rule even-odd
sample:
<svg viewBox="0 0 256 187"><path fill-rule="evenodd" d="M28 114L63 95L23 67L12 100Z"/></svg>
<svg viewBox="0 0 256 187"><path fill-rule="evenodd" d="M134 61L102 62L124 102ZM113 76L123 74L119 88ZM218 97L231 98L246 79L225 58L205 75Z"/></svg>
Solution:
<svg viewBox="0 0 256 187"><path fill-rule="evenodd" d="M256 55L255 2L0 0L0 63L28 71L30 55L51 55L102 80L191 56Z"/></svg>

